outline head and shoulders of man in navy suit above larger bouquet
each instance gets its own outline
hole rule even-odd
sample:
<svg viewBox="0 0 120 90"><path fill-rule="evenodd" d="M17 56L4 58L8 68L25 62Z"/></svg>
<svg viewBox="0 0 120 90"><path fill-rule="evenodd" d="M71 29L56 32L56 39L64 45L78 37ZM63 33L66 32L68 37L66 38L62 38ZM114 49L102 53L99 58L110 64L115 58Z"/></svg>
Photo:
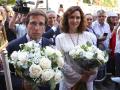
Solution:
<svg viewBox="0 0 120 90"><path fill-rule="evenodd" d="M10 42L7 46L8 54L20 49L19 45L31 40L35 40L42 47L52 44L47 38L43 38L42 35L45 32L45 26L47 24L47 17L41 10L33 10L28 13L26 17L27 34L23 37Z"/></svg>

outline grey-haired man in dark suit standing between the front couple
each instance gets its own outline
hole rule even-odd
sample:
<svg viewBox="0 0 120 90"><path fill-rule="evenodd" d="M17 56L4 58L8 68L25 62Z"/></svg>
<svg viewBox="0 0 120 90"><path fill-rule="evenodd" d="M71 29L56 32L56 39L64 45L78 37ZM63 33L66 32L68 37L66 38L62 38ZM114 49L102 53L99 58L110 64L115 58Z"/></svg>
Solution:
<svg viewBox="0 0 120 90"><path fill-rule="evenodd" d="M43 33L43 37L48 38L53 45L55 45L55 38L58 34L60 34L59 23L57 22L57 14L50 10L47 11L47 26L45 29L45 33Z"/></svg>

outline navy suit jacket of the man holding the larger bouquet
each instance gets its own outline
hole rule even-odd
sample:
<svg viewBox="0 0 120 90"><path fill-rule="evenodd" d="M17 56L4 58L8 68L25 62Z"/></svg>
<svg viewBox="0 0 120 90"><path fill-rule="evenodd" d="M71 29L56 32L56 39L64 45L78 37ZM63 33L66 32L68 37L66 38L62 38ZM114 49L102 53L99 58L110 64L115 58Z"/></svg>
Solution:
<svg viewBox="0 0 120 90"><path fill-rule="evenodd" d="M19 45L27 43L27 42L28 42L28 40L26 38L26 35L24 35L23 37L21 37L19 39L15 39L15 40L11 41L6 48L8 51L8 55L10 56L13 51L18 51L20 49ZM45 47L48 45L51 45L51 42L49 42L49 40L46 38L42 38L42 47ZM23 90L23 88L22 88L23 79L14 74L15 70L14 70L13 65L11 65L11 64L10 64L10 70L11 70L11 72L13 72L13 73L11 73L13 90ZM50 90L49 84L47 84L46 86L40 86L39 88L40 88L40 90ZM4 74L2 74L2 75L0 74L0 90L6 90Z"/></svg>

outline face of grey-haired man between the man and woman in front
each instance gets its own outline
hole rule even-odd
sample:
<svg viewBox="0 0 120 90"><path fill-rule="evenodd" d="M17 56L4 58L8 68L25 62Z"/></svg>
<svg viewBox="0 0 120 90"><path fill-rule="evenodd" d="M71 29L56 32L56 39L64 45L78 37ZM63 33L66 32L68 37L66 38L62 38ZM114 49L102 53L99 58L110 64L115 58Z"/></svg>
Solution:
<svg viewBox="0 0 120 90"><path fill-rule="evenodd" d="M47 14L48 17L48 25L53 26L57 21L57 15L53 12Z"/></svg>

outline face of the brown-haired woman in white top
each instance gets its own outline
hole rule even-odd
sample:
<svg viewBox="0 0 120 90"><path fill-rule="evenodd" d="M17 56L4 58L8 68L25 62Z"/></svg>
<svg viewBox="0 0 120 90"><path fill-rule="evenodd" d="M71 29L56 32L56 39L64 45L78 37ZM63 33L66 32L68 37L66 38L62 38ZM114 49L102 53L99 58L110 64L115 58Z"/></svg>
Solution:
<svg viewBox="0 0 120 90"><path fill-rule="evenodd" d="M81 22L81 15L79 11L73 12L69 17L68 17L68 24L69 24L69 29L70 31L76 32L78 26L80 25Z"/></svg>

